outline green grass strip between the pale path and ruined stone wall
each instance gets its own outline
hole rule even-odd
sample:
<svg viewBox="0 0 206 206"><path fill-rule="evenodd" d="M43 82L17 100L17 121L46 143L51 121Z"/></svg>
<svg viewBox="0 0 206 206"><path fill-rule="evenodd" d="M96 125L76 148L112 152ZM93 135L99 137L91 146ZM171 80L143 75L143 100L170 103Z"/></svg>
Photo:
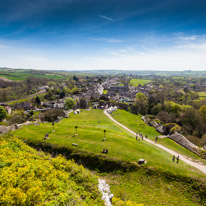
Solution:
<svg viewBox="0 0 206 206"><path fill-rule="evenodd" d="M154 127L148 126L141 119L140 115L131 114L125 110L117 110L116 112L113 112L113 118L121 124L127 126L132 131L141 132L144 136L147 135L148 139L151 139L153 141L155 140L156 136L161 135L155 130ZM190 152L189 150L180 146L179 144L177 144L169 138L159 138L158 143L178 152L179 154L186 155L192 158L194 161L201 161L206 164L206 161L202 160L198 155L194 154L193 152Z"/></svg>

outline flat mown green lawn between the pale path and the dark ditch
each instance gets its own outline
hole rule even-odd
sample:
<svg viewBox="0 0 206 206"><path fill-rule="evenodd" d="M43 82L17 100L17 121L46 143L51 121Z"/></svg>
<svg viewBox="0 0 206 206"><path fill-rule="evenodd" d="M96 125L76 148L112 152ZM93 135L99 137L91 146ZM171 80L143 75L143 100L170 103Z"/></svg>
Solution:
<svg viewBox="0 0 206 206"><path fill-rule="evenodd" d="M77 136L74 135L75 126L78 126ZM106 141L102 141L104 129L106 129ZM147 134L150 132L149 129L153 130L153 128L146 128L145 132ZM136 162L138 159L144 158L148 161L148 166L163 171L171 171L172 169L175 173L189 176L201 174L183 162L179 165L173 164L171 155L165 151L145 141L136 141L133 135L115 125L101 110L83 111L79 115L71 114L70 118L63 119L55 124L55 132L52 132L51 123L46 123L39 126L25 126L13 133L23 139L44 141L43 137L47 132L50 133L50 139L48 140L50 143L68 147L72 143L77 143L79 149L98 154L101 154L103 148L107 148L109 150L108 156L125 161ZM152 131L149 137L154 138L156 134L156 131Z"/></svg>

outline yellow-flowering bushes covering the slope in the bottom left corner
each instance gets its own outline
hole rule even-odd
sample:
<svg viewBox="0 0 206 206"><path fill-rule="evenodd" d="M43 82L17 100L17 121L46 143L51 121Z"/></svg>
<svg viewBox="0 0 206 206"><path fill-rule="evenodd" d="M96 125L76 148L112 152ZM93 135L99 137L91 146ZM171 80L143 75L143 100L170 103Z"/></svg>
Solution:
<svg viewBox="0 0 206 206"><path fill-rule="evenodd" d="M0 205L103 205L96 176L19 139L0 137Z"/></svg>

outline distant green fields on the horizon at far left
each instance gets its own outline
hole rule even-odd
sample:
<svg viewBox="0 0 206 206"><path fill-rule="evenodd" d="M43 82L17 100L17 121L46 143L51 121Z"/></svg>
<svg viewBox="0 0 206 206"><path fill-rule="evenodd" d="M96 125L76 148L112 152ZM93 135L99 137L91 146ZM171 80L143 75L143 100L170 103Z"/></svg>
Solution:
<svg viewBox="0 0 206 206"><path fill-rule="evenodd" d="M61 74L55 74L55 73L44 73L42 74L41 72L39 72L39 74L37 72L33 73L31 71L25 70L25 71L4 71L4 70L0 70L0 77L5 77L9 80L12 81L21 81L26 79L29 76L33 76L36 78L47 78L47 79L66 79L67 77Z"/></svg>

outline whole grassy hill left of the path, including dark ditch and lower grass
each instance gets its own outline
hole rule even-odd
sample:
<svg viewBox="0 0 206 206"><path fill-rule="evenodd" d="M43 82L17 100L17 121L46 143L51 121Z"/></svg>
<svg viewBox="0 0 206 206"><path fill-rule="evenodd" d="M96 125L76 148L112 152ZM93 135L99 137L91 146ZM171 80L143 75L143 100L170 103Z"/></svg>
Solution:
<svg viewBox="0 0 206 206"><path fill-rule="evenodd" d="M78 135L75 135L75 126ZM87 163L86 166L92 165L92 169L95 166L100 168L98 164L101 164L105 170L99 175L108 180L115 197L123 200L145 205L151 205L151 202L152 205L178 205L181 196L181 205L205 203L204 174L182 161L173 163L170 154L146 141L136 141L133 135L114 124L101 110L71 114L54 125L55 132L52 129L51 123L41 123L39 126L25 126L12 133L37 148L50 148L52 152L62 151L74 159L81 158L80 162ZM102 141L104 130L106 140ZM152 127L145 128L145 131L148 136L156 135ZM50 139L43 140L45 133L49 133ZM72 146L72 143L78 146ZM107 155L101 153L103 148L109 150ZM143 167L137 166L140 158L147 161ZM136 169L106 172L108 168L111 169L109 166L115 169L120 163L124 168L130 163Z"/></svg>

